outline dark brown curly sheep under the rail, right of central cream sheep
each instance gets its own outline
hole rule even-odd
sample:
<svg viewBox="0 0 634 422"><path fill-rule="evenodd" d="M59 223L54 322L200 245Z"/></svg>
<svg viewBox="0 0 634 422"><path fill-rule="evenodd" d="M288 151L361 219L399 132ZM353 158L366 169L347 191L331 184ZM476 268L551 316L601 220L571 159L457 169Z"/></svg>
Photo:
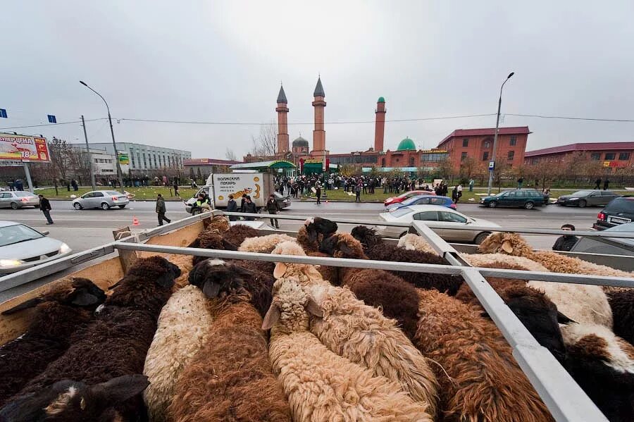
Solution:
<svg viewBox="0 0 634 422"><path fill-rule="evenodd" d="M321 248L335 258L366 259L361 243L352 235L338 233L324 240ZM337 283L349 287L365 304L380 307L388 318L394 318L411 339L418 324L416 288L383 270L337 268Z"/></svg>

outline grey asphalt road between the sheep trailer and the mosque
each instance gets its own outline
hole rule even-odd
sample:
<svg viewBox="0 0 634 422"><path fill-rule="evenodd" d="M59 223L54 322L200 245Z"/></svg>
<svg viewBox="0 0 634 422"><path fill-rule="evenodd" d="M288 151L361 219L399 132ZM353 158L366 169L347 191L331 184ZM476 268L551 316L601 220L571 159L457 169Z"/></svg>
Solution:
<svg viewBox="0 0 634 422"><path fill-rule="evenodd" d="M18 221L38 230L49 230L50 236L66 242L75 252L99 246L113 240L112 231L130 226L132 231L155 227L155 203L151 201L134 201L125 209L85 209L77 211L70 206L70 201L51 201L51 216L54 225L46 225L46 219L38 209L0 209L0 220ZM177 202L166 202L167 216L178 220L189 216L184 206ZM284 214L301 216L321 216L323 218L355 218L378 220L378 213L383 212L383 204L355 204L354 202L329 202L316 205L314 202L294 202ZM520 226L527 228L557 229L564 223L575 225L578 230L588 229L595 222L599 208L570 208L561 206L545 206L540 209L488 209L477 204L459 204L458 210L475 218L484 218L502 226ZM139 220L138 226L132 226L133 218ZM266 218L265 221L268 221ZM301 222L280 220L280 228L297 230ZM342 230L350 230L353 225L341 225ZM552 236L526 236L533 247L549 249L554 243Z"/></svg>

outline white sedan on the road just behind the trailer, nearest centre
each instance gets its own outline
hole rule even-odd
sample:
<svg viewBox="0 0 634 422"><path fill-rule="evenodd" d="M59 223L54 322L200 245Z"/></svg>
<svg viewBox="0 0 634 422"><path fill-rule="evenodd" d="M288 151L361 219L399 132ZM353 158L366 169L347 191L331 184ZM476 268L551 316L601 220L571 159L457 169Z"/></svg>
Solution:
<svg viewBox="0 0 634 422"><path fill-rule="evenodd" d="M412 221L429 221L435 226L432 230L447 242L467 242L480 244L495 230L452 230L468 224L487 228L499 228L499 225L480 218L473 218L440 205L404 206L392 213L380 213L379 218L390 223L411 223ZM408 232L405 227L378 225L377 232L383 237L402 237Z"/></svg>

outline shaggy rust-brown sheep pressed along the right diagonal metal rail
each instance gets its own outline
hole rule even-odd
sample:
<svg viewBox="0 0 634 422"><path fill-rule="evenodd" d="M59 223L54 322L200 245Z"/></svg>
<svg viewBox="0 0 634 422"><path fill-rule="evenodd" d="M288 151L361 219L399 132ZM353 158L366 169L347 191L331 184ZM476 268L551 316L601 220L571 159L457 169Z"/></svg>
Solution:
<svg viewBox="0 0 634 422"><path fill-rule="evenodd" d="M438 363L433 368L445 421L552 421L491 321L447 294L418 294L415 344Z"/></svg>

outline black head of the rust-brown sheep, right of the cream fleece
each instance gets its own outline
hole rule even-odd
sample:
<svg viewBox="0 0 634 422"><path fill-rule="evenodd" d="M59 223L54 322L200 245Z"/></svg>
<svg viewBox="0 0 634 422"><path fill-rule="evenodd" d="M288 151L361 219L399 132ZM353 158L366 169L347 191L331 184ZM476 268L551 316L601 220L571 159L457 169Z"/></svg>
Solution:
<svg viewBox="0 0 634 422"><path fill-rule="evenodd" d="M220 259L206 259L189 272L189 284L198 287L207 297L226 297L243 290L252 275L241 266Z"/></svg>

